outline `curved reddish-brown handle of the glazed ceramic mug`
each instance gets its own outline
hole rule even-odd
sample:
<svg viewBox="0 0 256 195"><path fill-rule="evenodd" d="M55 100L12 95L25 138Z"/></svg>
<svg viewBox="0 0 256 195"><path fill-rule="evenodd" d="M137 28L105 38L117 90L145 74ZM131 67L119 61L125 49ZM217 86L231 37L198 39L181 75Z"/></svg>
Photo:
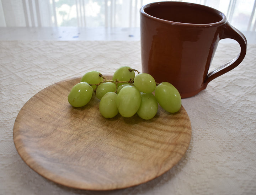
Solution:
<svg viewBox="0 0 256 195"><path fill-rule="evenodd" d="M244 34L242 34L238 29L231 26L228 22L226 23L226 26L224 28L224 32L222 33L222 36L220 37L220 40L221 39L226 39L226 38L236 40L240 45L241 51L238 54L238 56L236 56L233 60L229 61L228 63L226 63L226 64L214 69L212 72L210 72L207 75L206 80L204 81L205 87L214 78L217 78L218 76L223 75L226 72L234 69L245 58L246 49L247 49L247 40L246 40Z"/></svg>

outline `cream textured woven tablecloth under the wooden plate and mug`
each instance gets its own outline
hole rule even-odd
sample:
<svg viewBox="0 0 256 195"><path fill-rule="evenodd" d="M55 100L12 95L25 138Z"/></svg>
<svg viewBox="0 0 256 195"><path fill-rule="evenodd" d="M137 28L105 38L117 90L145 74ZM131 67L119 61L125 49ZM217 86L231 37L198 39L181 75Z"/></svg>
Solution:
<svg viewBox="0 0 256 195"><path fill-rule="evenodd" d="M239 53L220 43L211 69ZM141 70L140 43L88 41L0 42L0 194L255 194L256 45L234 70L182 99L192 125L190 147L176 166L147 183L114 191L67 188L41 177L18 155L13 126L22 106L55 82L120 66Z"/></svg>

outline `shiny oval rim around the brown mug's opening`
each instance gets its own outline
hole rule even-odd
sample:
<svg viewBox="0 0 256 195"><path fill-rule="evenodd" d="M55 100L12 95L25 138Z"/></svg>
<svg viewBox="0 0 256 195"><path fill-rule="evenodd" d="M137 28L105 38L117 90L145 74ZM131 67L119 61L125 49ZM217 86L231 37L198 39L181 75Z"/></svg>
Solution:
<svg viewBox="0 0 256 195"><path fill-rule="evenodd" d="M204 9L210 9L213 10L214 12L216 12L216 14L219 14L220 16L222 16L222 20L218 21L218 22L213 22L213 23L203 23L203 24L197 24L197 23L183 23L183 22L174 22L174 21L169 21L169 20L164 20L158 17L154 17L149 15L148 13L145 12L145 9L150 7L150 6L154 6L154 5L160 5L160 4L173 4L173 5L189 5L189 6L197 6L197 7L203 7ZM214 9L212 7L206 6L206 5L201 5L201 4L195 4L195 3L189 3L189 2L177 2L177 1L159 1L159 2L152 2L146 5L143 5L140 8L140 14L153 19L155 21L158 22L164 22L164 23L169 23L172 25L186 25L186 26L197 26L197 27L209 27L209 26L218 26L218 25L222 25L223 23L225 23L226 21L226 16L224 13L222 13L221 11Z"/></svg>

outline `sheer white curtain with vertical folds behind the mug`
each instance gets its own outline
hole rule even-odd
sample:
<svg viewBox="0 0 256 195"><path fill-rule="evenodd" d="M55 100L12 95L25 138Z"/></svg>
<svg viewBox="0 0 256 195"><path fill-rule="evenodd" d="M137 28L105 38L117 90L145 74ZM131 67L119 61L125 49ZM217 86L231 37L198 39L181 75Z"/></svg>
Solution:
<svg viewBox="0 0 256 195"><path fill-rule="evenodd" d="M158 0L161 1L161 0ZM240 31L255 31L256 0L179 0L222 11ZM153 0L0 0L0 27L139 27Z"/></svg>

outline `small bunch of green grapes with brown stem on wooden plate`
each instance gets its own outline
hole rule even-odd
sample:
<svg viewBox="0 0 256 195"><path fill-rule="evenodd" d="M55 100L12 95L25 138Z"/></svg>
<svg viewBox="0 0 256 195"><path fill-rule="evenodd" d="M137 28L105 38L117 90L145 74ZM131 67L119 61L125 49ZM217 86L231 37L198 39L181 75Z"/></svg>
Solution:
<svg viewBox="0 0 256 195"><path fill-rule="evenodd" d="M132 117L137 113L148 120L156 115L158 105L170 113L178 112L181 107L180 93L171 83L156 83L153 76L129 66L117 69L112 80L98 71L87 72L71 89L68 101L73 107L82 107L93 93L100 99L99 110L105 118L113 118L118 113Z"/></svg>

